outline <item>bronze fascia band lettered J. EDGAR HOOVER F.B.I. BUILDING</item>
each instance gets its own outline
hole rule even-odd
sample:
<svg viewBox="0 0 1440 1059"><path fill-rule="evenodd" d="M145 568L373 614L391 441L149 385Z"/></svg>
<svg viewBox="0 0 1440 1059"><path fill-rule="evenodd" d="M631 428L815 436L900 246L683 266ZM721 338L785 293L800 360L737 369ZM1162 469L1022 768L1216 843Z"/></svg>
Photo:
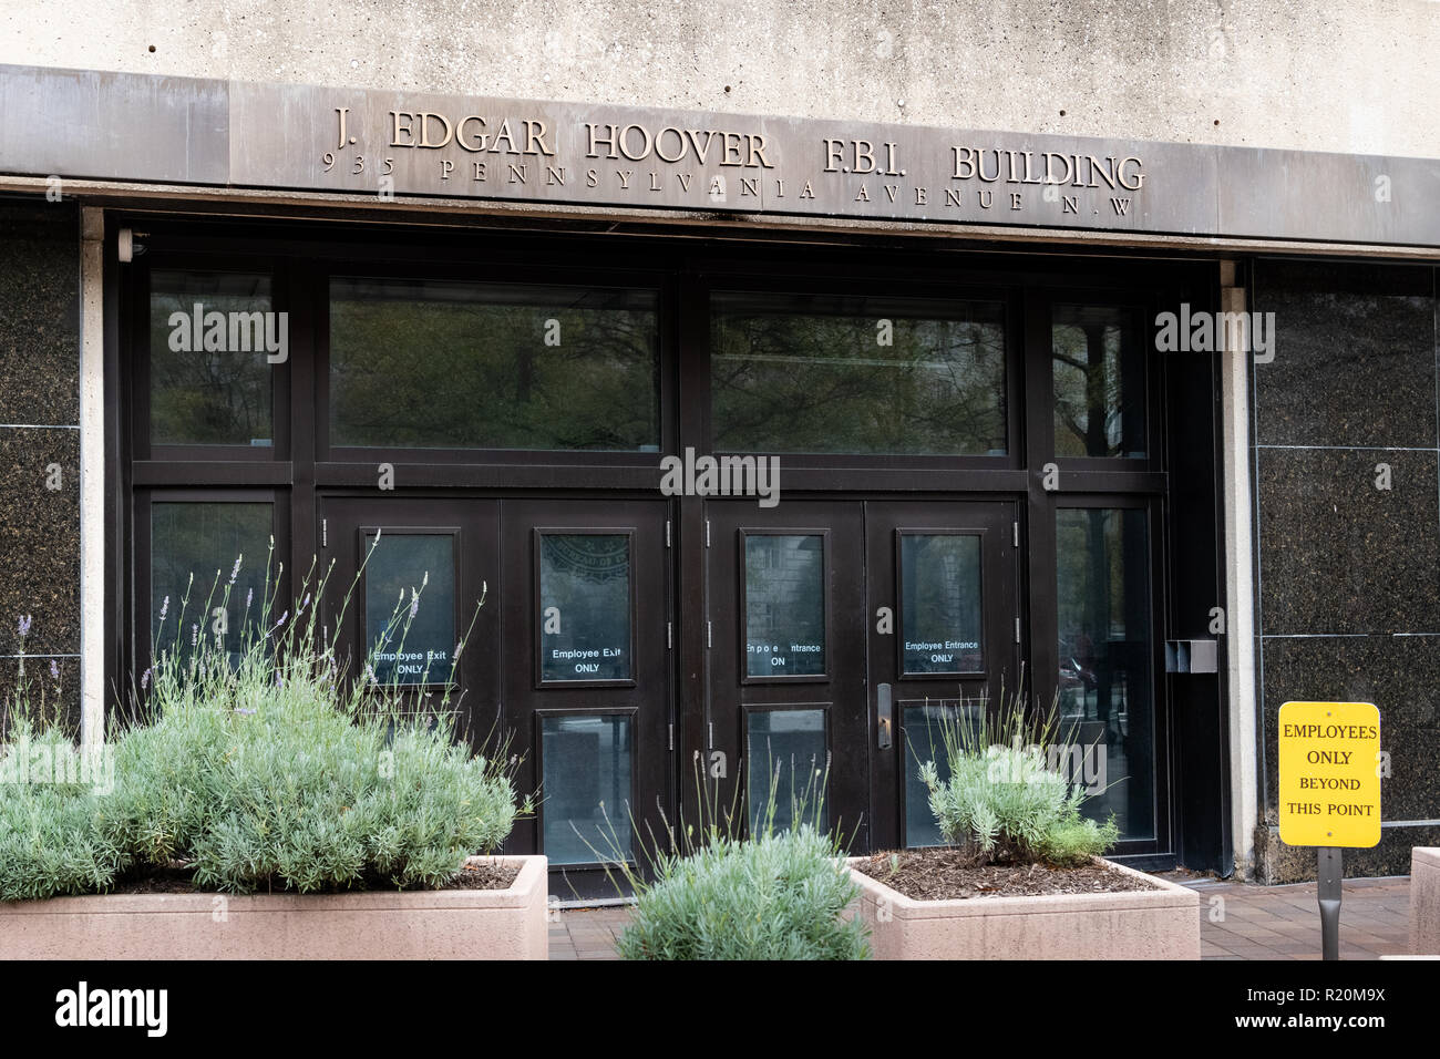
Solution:
<svg viewBox="0 0 1440 1059"><path fill-rule="evenodd" d="M1421 158L32 66L0 104L10 174L1440 245Z"/></svg>

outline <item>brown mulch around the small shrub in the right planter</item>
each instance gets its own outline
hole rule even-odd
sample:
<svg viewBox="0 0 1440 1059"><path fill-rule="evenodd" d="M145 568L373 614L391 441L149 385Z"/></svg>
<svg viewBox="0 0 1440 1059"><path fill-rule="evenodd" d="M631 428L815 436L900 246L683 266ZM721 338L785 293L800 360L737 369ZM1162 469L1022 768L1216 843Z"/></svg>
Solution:
<svg viewBox="0 0 1440 1059"><path fill-rule="evenodd" d="M894 867L893 867L894 863ZM877 853L854 867L914 901L1058 896L1164 889L1102 864L975 864L973 853L936 847Z"/></svg>

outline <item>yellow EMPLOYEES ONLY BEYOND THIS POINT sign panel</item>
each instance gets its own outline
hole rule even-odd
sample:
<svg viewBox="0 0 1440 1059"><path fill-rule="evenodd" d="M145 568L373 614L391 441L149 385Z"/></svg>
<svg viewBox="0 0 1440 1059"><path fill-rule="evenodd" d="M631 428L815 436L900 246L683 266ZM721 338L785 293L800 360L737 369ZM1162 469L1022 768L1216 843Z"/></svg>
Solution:
<svg viewBox="0 0 1440 1059"><path fill-rule="evenodd" d="M1380 841L1380 710L1368 702L1280 707L1280 841Z"/></svg>

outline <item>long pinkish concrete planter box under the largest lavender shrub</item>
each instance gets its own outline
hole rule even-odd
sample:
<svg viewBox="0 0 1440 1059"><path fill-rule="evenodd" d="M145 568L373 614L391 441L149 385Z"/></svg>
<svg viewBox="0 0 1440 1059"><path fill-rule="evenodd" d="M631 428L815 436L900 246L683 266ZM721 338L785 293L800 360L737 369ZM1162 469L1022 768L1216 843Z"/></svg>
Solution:
<svg viewBox="0 0 1440 1059"><path fill-rule="evenodd" d="M546 859L497 860L520 864L504 890L132 893L0 903L0 958L546 960ZM484 857L471 857L478 862Z"/></svg>

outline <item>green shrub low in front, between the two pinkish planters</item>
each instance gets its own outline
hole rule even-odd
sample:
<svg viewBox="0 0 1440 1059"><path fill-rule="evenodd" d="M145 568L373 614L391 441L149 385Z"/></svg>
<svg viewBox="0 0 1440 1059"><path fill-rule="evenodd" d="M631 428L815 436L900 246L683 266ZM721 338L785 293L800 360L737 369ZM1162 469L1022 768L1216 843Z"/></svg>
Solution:
<svg viewBox="0 0 1440 1059"><path fill-rule="evenodd" d="M717 837L660 857L621 935L625 960L864 960L864 924L842 912L860 888L835 843L802 823L757 839Z"/></svg>

